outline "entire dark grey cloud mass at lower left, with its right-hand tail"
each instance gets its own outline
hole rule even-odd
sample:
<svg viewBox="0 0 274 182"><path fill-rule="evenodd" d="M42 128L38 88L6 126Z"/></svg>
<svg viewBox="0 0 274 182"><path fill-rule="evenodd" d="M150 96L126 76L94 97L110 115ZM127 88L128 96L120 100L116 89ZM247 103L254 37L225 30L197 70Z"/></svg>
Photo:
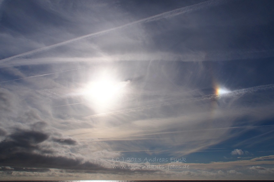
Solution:
<svg viewBox="0 0 274 182"><path fill-rule="evenodd" d="M33 124L33 126L39 124L41 122ZM132 171L130 169L110 168L111 161L107 162L101 159L89 161L81 156L58 153L52 147L45 148L48 145L53 145L51 141L61 144L61 146L57 146L58 150L62 150L62 145L76 145L77 141L72 138L57 138L56 133L35 130L13 129L12 131L14 133L6 135L4 140L0 142L0 164L2 165L0 171L9 174L14 171L44 173L49 172L49 168L67 170L68 173L100 174L117 174L118 172L154 173L158 171L139 169Z"/></svg>

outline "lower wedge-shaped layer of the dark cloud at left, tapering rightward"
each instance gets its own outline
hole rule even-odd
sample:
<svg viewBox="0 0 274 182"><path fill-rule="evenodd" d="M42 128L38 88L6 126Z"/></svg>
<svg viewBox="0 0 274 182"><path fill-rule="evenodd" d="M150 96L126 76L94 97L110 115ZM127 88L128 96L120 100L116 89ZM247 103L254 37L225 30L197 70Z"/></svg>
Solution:
<svg viewBox="0 0 274 182"><path fill-rule="evenodd" d="M5 145L2 142L2 146ZM5 146L6 149L9 146ZM12 149L14 150L14 149ZM9 150L11 151L11 150ZM48 153L49 154L49 153ZM26 171L26 172L48 172L48 168L61 169L66 170L68 173L112 173L117 174L119 172L125 173L155 173L159 171L156 170L130 170L128 169L120 169L120 168L110 168L111 162L106 162L105 160L97 161L85 161L81 157L69 158L65 156L58 155L43 155L37 154L35 152L12 152L0 154L0 163L2 167L0 170L2 171ZM107 166L106 166L107 164ZM125 165L125 164L122 164Z"/></svg>

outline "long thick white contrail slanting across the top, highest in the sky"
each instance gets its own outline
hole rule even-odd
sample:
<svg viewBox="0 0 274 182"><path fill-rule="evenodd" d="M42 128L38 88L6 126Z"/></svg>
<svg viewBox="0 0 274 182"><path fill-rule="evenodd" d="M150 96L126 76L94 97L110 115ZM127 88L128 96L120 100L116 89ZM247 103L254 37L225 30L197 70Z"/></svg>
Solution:
<svg viewBox="0 0 274 182"><path fill-rule="evenodd" d="M107 32L111 32L113 30L122 29L122 28L130 26L130 25L134 25L134 24L138 24L138 23L146 23L146 22L157 21L157 20L160 20L160 19L163 19L163 18L171 18L171 17L181 15L181 14L184 14L184 13L194 12L194 11L198 11L200 9L220 5L220 4L223 4L224 2L227 2L227 1L226 0L209 0L209 1L201 2L201 3L195 4L195 5L186 6L186 7L183 7L183 8L178 8L178 9L175 9L175 10L172 10L172 11L168 11L168 12L164 12L164 13L161 13L161 14L158 14L158 15L150 16L148 18L144 18L144 19L140 19L140 20L137 20L137 21L134 21L134 22L130 22L130 23L127 23L125 25L121 25L121 26L114 27L114 28L111 28L111 29L103 30L103 31L100 31L100 32L95 32L95 33L83 35L83 36L80 36L80 37L77 37L77 38L74 38L74 39L70 39L70 40L67 40L67 41L64 41L64 42L49 45L49 46L42 47L42 48L39 48L39 49L34 49L32 51L29 51L29 52L24 52L22 54L18 54L18 55L11 56L11 57L8 57L8 58L5 58L5 59L1 59L0 63L5 62L5 61L9 61L9 60L14 59L14 58L18 58L18 57L21 57L21 56L26 56L26 55L29 55L29 54L32 54L32 53L35 53L35 52L40 52L40 51L43 51L43 50L46 50L46 49L51 49L51 48L54 48L54 47L57 47L57 46L60 46L60 45L65 45L65 44L68 44L70 42L74 42L74 41L84 39L84 38L87 38L87 37L93 37L95 35L101 35L101 34L104 34L104 33L107 33Z"/></svg>

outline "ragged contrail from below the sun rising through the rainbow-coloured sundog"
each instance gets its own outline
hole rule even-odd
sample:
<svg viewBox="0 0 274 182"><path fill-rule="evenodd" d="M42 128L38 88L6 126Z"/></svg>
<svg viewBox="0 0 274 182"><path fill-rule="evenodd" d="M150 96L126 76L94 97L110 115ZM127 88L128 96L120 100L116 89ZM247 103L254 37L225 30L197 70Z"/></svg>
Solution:
<svg viewBox="0 0 274 182"><path fill-rule="evenodd" d="M166 102L166 103L152 104L152 105L140 106L140 107L125 109L125 110L118 110L118 111L112 111L112 112L107 112L107 113L94 114L94 115L90 115L90 116L85 116L83 118L98 117L98 116L103 116L106 114L114 114L114 113L138 112L138 111L142 111L144 109L151 109L154 107L167 106L167 105L171 105L171 104L181 103L182 101L184 101L184 102L192 101L193 102L193 101L218 99L221 97L230 97L230 96L235 96L235 95L238 95L241 93L251 93L251 92L256 92L258 90L267 90L267 89L274 89L274 84L254 86L254 87L249 87L249 88L245 88L245 89L238 89L238 90L234 90L234 91L231 91L231 92L225 93L225 94L209 94L209 95L205 95L205 96L201 96L201 97L180 99L180 100L175 100L175 101Z"/></svg>

